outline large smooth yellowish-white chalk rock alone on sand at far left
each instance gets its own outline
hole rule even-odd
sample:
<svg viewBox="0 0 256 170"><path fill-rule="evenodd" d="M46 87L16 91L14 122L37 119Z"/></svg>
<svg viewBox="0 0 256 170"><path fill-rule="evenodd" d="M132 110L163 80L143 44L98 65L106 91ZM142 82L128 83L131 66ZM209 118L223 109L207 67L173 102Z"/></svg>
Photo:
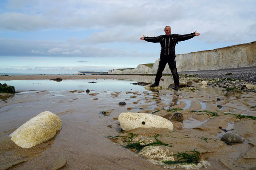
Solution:
<svg viewBox="0 0 256 170"><path fill-rule="evenodd" d="M19 147L29 148L51 139L60 129L61 119L52 112L45 111L21 125L9 136Z"/></svg>

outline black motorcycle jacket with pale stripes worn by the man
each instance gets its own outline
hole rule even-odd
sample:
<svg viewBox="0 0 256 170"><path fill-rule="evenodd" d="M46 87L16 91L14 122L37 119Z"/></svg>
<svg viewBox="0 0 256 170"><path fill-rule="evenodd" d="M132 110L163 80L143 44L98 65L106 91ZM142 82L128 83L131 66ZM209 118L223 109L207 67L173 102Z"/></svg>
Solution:
<svg viewBox="0 0 256 170"><path fill-rule="evenodd" d="M185 41L195 37L195 33L191 34L171 34L171 35L160 35L157 37L144 37L145 41L148 42L160 42L161 44L161 54L175 57L175 45L178 41Z"/></svg>

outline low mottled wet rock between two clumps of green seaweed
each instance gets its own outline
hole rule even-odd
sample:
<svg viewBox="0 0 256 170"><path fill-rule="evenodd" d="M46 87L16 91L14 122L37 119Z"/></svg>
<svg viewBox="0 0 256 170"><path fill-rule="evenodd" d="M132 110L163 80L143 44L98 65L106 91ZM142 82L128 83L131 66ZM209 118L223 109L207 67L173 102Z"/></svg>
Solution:
<svg viewBox="0 0 256 170"><path fill-rule="evenodd" d="M155 159L161 161L174 161L173 153L167 146L146 146L138 153L147 159Z"/></svg>

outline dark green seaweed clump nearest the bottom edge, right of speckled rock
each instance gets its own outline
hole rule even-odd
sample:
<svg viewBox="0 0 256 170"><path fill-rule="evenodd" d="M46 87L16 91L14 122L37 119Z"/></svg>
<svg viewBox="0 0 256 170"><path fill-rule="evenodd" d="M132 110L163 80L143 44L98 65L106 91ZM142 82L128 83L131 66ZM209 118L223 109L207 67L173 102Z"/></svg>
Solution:
<svg viewBox="0 0 256 170"><path fill-rule="evenodd" d="M182 153L172 154L176 156L177 161L163 161L165 164L198 164L200 162L201 155L197 150L186 151Z"/></svg>

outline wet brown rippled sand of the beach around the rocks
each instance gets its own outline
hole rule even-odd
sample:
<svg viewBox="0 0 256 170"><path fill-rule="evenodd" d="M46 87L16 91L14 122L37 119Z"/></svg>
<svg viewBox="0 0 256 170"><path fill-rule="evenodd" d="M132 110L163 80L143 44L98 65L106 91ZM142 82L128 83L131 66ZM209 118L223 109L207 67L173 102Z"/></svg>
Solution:
<svg viewBox="0 0 256 170"><path fill-rule="evenodd" d="M139 75L54 75L54 76L9 76L0 80L17 79L132 79L134 82L152 82L154 76ZM51 169L58 156L67 160L63 170L115 169L141 170L165 169L143 156L122 147L121 139L115 142L108 136L151 137L159 134L163 143L172 145L174 153L197 149L201 158L210 165L200 169L248 169L256 167L256 121L249 118L238 119L235 115L256 116L256 97L253 92L243 92L237 96L224 96L224 88L202 86L195 82L198 78L181 77L180 82L192 81L197 90L174 91L143 89L141 91L93 91L70 89L64 91L23 91L0 101L0 169L13 164L11 170ZM122 81L122 80L120 80ZM163 77L160 85L167 87L172 78ZM31 89L32 90L32 89ZM80 92L79 92L80 91ZM220 99L220 100L217 100ZM118 105L119 102L126 105ZM222 105L218 108L217 105ZM173 122L174 131L166 129L138 128L120 133L117 125L122 112L154 113L166 119L175 112L168 109L180 108L184 121ZM17 127L43 111L51 111L62 120L61 130L54 138L35 147L25 149L10 140L9 134ZM104 116L102 111L107 111ZM192 112L208 111L208 112ZM210 112L218 113L212 116ZM228 125L231 125L228 126ZM244 143L225 144L220 140L223 132L218 127L228 129L243 136ZM185 128L186 127L186 128ZM227 128L228 127L228 128ZM205 139L208 140L205 140ZM204 139L204 140L203 140ZM183 169L183 168L177 168Z"/></svg>

